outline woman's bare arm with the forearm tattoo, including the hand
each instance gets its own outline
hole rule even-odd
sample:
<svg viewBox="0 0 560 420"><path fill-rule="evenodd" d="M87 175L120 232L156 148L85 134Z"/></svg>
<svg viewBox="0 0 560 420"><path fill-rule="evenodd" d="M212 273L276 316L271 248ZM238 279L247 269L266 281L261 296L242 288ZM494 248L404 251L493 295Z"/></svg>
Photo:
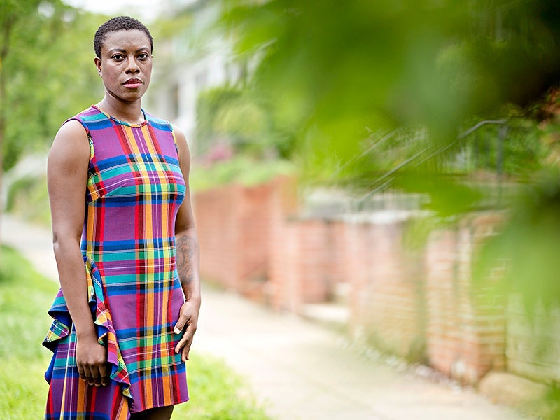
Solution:
<svg viewBox="0 0 560 420"><path fill-rule="evenodd" d="M188 174L190 171L190 153L188 151L185 136L179 130L175 130L177 148L179 149L179 160L181 172L187 186L185 201L179 208L175 222L175 244L176 262L181 287L185 293L186 302L181 307L179 321L177 321L174 332L180 334L184 330L183 338L177 344L176 353L181 352L183 361L188 360L190 345L197 330L198 313L200 311L200 254L198 247L197 232L193 217L193 208L190 202L190 188Z"/></svg>

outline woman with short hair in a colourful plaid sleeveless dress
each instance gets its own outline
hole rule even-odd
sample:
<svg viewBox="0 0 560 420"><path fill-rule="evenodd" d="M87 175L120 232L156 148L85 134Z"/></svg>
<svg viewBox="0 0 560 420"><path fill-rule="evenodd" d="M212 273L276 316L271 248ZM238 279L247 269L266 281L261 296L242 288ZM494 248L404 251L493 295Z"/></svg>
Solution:
<svg viewBox="0 0 560 420"><path fill-rule="evenodd" d="M66 121L48 160L61 289L45 419L170 419L188 400L200 310L185 136L146 113L153 40L118 17L94 38L105 88Z"/></svg>

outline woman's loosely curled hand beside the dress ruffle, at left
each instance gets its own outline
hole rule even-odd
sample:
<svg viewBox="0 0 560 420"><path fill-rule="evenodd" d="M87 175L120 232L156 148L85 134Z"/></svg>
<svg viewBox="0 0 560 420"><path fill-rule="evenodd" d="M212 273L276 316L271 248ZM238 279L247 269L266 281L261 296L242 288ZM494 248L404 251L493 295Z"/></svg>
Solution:
<svg viewBox="0 0 560 420"><path fill-rule="evenodd" d="M105 346L99 344L97 337L94 335L77 337L76 341L76 365L80 378L89 385L102 386L109 384L109 368Z"/></svg>

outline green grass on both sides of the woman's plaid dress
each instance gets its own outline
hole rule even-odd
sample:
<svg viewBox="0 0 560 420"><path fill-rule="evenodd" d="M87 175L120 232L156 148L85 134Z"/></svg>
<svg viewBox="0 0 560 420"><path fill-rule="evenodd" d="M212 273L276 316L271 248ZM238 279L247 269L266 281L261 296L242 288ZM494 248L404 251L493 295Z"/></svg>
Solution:
<svg viewBox="0 0 560 420"><path fill-rule="evenodd" d="M0 248L0 420L43 418L50 351L41 341L57 284L37 274L10 248ZM244 381L221 360L193 349L188 362L190 402L173 419L266 420Z"/></svg>

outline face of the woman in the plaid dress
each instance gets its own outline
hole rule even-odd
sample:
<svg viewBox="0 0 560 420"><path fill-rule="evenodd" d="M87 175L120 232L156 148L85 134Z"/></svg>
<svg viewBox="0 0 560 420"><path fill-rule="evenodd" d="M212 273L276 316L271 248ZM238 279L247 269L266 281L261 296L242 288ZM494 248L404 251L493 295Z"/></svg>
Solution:
<svg viewBox="0 0 560 420"><path fill-rule="evenodd" d="M141 99L152 74L150 39L137 29L109 32L95 58L106 95L123 102Z"/></svg>

